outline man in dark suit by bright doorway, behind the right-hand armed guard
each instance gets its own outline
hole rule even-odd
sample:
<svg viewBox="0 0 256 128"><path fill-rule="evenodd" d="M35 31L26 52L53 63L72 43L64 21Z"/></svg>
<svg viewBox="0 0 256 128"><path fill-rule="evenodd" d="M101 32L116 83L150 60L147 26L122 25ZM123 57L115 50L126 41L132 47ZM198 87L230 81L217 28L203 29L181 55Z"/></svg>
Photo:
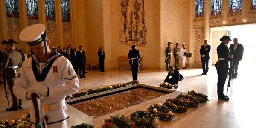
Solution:
<svg viewBox="0 0 256 128"><path fill-rule="evenodd" d="M237 38L233 39L234 44L230 44L230 55L234 56L233 59L233 71L232 71L232 76L233 77L237 77L238 73L237 73L237 69L238 69L238 65L239 65L239 61L242 60L243 58L243 54L244 54L244 47L242 44L239 44L237 41Z"/></svg>

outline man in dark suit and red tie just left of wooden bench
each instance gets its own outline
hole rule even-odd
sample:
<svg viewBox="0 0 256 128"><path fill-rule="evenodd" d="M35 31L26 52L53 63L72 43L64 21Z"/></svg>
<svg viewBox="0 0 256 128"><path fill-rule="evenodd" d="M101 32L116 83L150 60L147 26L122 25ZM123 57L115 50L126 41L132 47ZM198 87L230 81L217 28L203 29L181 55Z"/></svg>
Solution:
<svg viewBox="0 0 256 128"><path fill-rule="evenodd" d="M86 56L83 51L83 47L79 46L79 51L76 52L76 62L79 66L79 76L80 78L85 78L85 64L86 64Z"/></svg>

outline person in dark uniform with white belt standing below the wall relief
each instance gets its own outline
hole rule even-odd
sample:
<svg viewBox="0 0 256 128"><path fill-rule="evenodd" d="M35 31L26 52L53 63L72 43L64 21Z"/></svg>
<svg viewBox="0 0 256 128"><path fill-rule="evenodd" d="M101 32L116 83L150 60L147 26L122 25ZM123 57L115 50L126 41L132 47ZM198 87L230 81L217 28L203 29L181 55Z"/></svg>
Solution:
<svg viewBox="0 0 256 128"><path fill-rule="evenodd" d="M136 50L136 45L131 46L132 50L128 53L128 58L131 59L129 64L131 66L132 80L137 81L140 67L140 51Z"/></svg>

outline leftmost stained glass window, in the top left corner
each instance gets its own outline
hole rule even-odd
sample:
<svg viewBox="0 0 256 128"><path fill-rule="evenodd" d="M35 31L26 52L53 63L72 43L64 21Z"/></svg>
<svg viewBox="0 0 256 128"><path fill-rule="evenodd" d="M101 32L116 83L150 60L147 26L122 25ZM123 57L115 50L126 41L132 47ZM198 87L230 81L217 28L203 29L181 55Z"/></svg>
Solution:
<svg viewBox="0 0 256 128"><path fill-rule="evenodd" d="M6 0L6 14L8 17L19 17L18 0Z"/></svg>

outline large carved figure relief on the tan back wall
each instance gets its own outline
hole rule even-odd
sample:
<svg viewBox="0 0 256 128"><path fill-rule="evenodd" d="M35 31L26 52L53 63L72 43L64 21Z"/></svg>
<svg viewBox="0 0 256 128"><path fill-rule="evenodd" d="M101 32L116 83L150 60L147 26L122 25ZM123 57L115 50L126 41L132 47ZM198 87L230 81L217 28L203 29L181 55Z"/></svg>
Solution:
<svg viewBox="0 0 256 128"><path fill-rule="evenodd" d="M144 0L120 0L119 6L120 43L125 46L145 46L147 28Z"/></svg>

